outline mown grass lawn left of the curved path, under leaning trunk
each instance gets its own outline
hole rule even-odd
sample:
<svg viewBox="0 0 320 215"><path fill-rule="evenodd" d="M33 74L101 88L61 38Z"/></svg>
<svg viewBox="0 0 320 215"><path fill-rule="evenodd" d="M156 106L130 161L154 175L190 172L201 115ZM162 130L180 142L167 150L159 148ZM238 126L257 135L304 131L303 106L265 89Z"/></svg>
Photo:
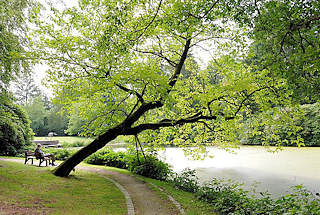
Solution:
<svg viewBox="0 0 320 215"><path fill-rule="evenodd" d="M126 214L123 194L108 180L77 171L55 177L50 168L0 161L0 204L45 214Z"/></svg>

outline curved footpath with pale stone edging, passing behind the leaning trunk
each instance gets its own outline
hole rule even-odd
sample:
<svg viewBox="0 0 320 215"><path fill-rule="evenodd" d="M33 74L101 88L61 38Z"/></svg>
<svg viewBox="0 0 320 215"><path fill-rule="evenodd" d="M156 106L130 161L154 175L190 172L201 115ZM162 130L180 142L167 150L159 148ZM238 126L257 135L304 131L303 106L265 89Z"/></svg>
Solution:
<svg viewBox="0 0 320 215"><path fill-rule="evenodd" d="M24 162L22 159L0 159L21 163ZM76 171L77 170L94 172L99 174L101 177L112 181L125 195L128 207L128 215L185 214L181 205L170 195L168 195L168 199L161 198L153 190L151 190L145 182L138 180L134 176L109 171L103 168L84 166L81 164L76 167ZM165 193L161 188L156 188Z"/></svg>

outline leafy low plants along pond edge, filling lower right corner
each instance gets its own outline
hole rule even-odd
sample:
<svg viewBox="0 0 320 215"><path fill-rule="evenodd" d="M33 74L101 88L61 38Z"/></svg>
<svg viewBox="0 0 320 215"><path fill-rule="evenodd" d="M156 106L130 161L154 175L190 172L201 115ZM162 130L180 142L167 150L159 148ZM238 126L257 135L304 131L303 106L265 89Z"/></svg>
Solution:
<svg viewBox="0 0 320 215"><path fill-rule="evenodd" d="M177 188L195 193L222 214L320 214L320 199L301 185L293 187L293 193L273 199L269 193L250 196L240 184L231 181L213 179L199 185L192 170L184 170L174 177ZM179 181L182 183L176 183Z"/></svg>

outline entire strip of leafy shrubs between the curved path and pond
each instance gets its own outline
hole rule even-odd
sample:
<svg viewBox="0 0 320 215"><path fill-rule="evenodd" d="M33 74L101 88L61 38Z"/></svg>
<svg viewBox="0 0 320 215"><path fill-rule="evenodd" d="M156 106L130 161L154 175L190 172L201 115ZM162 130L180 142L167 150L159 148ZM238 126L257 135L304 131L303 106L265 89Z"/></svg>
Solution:
<svg viewBox="0 0 320 215"><path fill-rule="evenodd" d="M150 154L137 157L134 151L127 153L107 149L93 154L86 162L124 168L166 181L176 189L192 193L197 199L209 203L212 210L222 214L320 214L319 194L313 194L303 186L296 186L293 193L273 199L268 193L250 195L239 184L229 181L214 179L201 185L195 171L173 173L168 164Z"/></svg>

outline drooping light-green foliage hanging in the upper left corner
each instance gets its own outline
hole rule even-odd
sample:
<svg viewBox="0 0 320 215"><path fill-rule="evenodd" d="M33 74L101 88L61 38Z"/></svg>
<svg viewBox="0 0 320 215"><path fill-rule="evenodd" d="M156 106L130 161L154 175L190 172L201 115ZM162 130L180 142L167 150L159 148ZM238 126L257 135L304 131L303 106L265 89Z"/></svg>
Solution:
<svg viewBox="0 0 320 215"><path fill-rule="evenodd" d="M24 47L26 14L31 6L31 0L0 2L0 87L7 86L29 67Z"/></svg>

